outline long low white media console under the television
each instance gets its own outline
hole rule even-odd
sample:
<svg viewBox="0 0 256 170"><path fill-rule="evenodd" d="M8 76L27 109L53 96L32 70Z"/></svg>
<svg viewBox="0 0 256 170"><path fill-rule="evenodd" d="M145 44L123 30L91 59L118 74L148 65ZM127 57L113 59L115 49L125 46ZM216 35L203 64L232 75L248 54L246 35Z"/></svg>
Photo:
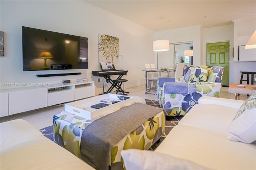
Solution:
<svg viewBox="0 0 256 170"><path fill-rule="evenodd" d="M0 117L92 96L94 81L5 89L0 94Z"/></svg>

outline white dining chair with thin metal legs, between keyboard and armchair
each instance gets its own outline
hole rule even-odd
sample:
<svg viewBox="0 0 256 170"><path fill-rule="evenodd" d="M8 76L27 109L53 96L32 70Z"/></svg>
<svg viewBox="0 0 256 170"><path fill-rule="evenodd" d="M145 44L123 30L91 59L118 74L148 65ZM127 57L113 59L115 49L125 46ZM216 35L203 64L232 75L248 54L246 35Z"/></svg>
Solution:
<svg viewBox="0 0 256 170"><path fill-rule="evenodd" d="M145 70L157 70L155 64L148 64L145 63ZM145 74L146 78L146 92L148 94L156 94L156 93L150 93L151 90L156 91L156 84L158 80L158 74L157 72L146 72Z"/></svg>

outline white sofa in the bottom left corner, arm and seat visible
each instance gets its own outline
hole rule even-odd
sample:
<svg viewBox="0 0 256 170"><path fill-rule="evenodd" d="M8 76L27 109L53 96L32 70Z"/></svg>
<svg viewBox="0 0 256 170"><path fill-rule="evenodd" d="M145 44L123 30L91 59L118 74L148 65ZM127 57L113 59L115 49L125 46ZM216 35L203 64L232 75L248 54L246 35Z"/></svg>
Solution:
<svg viewBox="0 0 256 170"><path fill-rule="evenodd" d="M25 120L0 124L1 170L93 170Z"/></svg>

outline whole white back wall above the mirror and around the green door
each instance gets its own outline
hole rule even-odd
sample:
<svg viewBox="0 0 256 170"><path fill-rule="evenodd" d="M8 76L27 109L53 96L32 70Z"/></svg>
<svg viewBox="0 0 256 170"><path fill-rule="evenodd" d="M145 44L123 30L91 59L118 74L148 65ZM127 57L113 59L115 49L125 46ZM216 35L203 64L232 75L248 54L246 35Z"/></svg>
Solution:
<svg viewBox="0 0 256 170"><path fill-rule="evenodd" d="M239 20L234 24L218 26L212 28L203 28L201 25L179 28L174 30L162 31L162 39L170 40L170 43L193 42L193 64L206 65L206 44L212 42L230 42L230 83L239 83L240 71L256 71L256 62L237 62L237 46L243 44L250 38L256 29L256 21L240 23ZM155 40L160 39L160 32L156 32ZM234 57L233 57L234 47ZM251 52L252 51L252 52ZM243 60L255 61L256 53L250 50L251 56ZM158 53L158 60L164 53ZM156 58L155 54L155 58ZM234 61L234 62L233 62Z"/></svg>

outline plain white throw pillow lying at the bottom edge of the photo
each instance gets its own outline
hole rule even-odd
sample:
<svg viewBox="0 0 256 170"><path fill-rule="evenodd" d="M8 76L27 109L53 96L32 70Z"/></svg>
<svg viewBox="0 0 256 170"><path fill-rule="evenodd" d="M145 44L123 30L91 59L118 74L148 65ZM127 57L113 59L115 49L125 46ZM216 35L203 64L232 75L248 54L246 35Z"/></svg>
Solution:
<svg viewBox="0 0 256 170"><path fill-rule="evenodd" d="M126 170L202 170L206 168L189 160L175 158L150 150L121 151Z"/></svg>

